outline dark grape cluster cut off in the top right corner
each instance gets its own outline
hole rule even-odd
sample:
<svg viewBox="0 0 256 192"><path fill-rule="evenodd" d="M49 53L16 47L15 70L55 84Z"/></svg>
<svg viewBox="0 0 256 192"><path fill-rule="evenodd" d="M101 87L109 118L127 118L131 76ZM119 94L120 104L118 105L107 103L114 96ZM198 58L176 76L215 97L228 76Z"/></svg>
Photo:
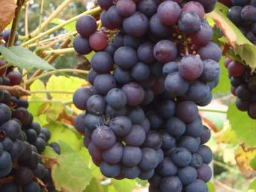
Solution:
<svg viewBox="0 0 256 192"><path fill-rule="evenodd" d="M232 6L227 13L234 23L252 43L256 44L256 1L232 0Z"/></svg>

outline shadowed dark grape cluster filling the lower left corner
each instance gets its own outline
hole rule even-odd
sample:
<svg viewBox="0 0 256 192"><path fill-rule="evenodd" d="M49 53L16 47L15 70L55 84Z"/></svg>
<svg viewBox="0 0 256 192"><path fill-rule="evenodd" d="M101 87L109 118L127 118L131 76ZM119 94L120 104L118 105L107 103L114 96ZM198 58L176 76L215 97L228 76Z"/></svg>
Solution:
<svg viewBox="0 0 256 192"><path fill-rule="evenodd" d="M28 102L0 90L0 192L54 192L51 171L41 162L51 133L33 122ZM57 143L49 144L60 154ZM9 179L8 179L9 178Z"/></svg>

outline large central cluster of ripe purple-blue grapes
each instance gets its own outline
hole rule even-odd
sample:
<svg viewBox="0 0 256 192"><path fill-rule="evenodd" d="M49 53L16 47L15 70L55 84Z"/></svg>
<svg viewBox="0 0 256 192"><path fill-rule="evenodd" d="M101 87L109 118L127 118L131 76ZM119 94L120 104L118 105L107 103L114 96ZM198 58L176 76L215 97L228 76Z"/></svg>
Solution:
<svg viewBox="0 0 256 192"><path fill-rule="evenodd" d="M104 176L149 180L150 192L208 191L210 130L197 105L212 101L219 82L222 51L204 20L215 4L98 0L101 32L92 16L77 21L74 49L96 53L91 87L73 96L86 110L75 127ZM91 39L99 33L107 43Z"/></svg>

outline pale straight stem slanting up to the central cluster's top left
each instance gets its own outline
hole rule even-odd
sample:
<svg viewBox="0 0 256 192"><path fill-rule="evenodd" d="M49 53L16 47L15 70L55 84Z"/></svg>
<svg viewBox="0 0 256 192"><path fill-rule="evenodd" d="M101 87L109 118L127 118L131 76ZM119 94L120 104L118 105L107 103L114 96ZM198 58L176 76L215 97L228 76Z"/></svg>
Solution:
<svg viewBox="0 0 256 192"><path fill-rule="evenodd" d="M29 44L34 43L35 41L39 40L41 37L44 37L45 35L52 34L56 30L61 29L62 27L66 26L67 24L72 23L73 21L79 20L79 18L81 16L84 16L84 15L94 15L94 14L100 12L100 11L101 11L100 7L96 7L94 9L87 10L86 12L81 13L80 15L74 16L70 20L67 20L67 21L65 21L65 22L63 22L63 23L61 23L61 24L59 24L59 25L57 25L55 27L52 27L52 29L46 30L45 32L43 32L41 34L38 34L34 38L31 38L30 40L28 40L25 43L21 44L21 46L28 46Z"/></svg>

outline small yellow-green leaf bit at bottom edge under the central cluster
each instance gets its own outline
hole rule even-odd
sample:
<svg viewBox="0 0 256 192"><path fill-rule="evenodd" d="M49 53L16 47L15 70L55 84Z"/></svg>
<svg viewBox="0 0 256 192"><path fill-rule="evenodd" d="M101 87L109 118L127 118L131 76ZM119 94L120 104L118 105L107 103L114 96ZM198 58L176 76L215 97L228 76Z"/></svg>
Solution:
<svg viewBox="0 0 256 192"><path fill-rule="evenodd" d="M130 192L136 187L135 180L124 179L122 182L119 180L112 180L113 186L118 192Z"/></svg>

